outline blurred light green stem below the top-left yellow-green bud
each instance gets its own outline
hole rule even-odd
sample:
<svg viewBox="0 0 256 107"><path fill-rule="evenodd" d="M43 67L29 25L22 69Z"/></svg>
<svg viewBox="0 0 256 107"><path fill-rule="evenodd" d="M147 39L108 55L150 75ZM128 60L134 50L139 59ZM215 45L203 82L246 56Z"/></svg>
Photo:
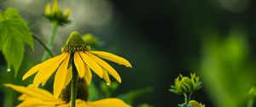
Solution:
<svg viewBox="0 0 256 107"><path fill-rule="evenodd" d="M50 37L48 39L48 42L47 42L47 47L49 48L49 50L52 51L53 47L54 47L54 42L55 42L55 34L56 34L56 31L58 29L58 26L59 26L59 23L58 22L54 22L53 23L53 27L51 29L51 34L50 34ZM43 57L41 59L41 61L43 62L44 60L46 59L49 59L49 54L45 51L44 54L43 54Z"/></svg>

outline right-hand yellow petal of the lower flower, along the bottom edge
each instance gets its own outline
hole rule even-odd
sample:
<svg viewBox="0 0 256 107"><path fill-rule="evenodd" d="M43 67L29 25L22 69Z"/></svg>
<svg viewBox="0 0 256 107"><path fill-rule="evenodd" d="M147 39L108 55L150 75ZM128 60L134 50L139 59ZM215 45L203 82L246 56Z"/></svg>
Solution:
<svg viewBox="0 0 256 107"><path fill-rule="evenodd" d="M94 102L88 102L92 107L131 107L121 99L101 99Z"/></svg>

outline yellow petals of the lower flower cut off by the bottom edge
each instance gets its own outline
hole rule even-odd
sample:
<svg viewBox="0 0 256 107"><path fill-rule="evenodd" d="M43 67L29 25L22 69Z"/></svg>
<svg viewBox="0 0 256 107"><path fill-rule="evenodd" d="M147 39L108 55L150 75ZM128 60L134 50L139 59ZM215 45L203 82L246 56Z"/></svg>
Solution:
<svg viewBox="0 0 256 107"><path fill-rule="evenodd" d="M5 87L10 87L15 91L22 93L19 100L22 103L17 107L70 107L70 103L63 101L62 99L56 99L51 93L38 87L15 86L12 84L4 84ZM131 107L125 104L121 99L101 99L94 102L87 102L82 99L76 99L77 107Z"/></svg>

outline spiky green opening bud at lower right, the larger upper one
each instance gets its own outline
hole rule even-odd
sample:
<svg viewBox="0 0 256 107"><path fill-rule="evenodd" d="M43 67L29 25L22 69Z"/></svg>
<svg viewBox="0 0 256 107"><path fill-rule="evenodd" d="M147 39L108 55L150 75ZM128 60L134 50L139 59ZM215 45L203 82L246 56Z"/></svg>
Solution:
<svg viewBox="0 0 256 107"><path fill-rule="evenodd" d="M190 78L188 76L179 75L175 79L174 86L171 86L172 93L193 93L195 90L201 88L201 82L199 80L199 76L195 76L194 74L190 74Z"/></svg>

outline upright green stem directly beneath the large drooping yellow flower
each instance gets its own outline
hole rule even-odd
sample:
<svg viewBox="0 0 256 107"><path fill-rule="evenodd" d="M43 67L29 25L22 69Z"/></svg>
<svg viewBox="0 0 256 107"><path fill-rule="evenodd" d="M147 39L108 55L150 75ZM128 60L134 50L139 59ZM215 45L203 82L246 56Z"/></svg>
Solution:
<svg viewBox="0 0 256 107"><path fill-rule="evenodd" d="M73 54L72 57L72 82L71 82L71 107L76 106L76 94L77 94L77 82L78 82L78 70L74 65Z"/></svg>

